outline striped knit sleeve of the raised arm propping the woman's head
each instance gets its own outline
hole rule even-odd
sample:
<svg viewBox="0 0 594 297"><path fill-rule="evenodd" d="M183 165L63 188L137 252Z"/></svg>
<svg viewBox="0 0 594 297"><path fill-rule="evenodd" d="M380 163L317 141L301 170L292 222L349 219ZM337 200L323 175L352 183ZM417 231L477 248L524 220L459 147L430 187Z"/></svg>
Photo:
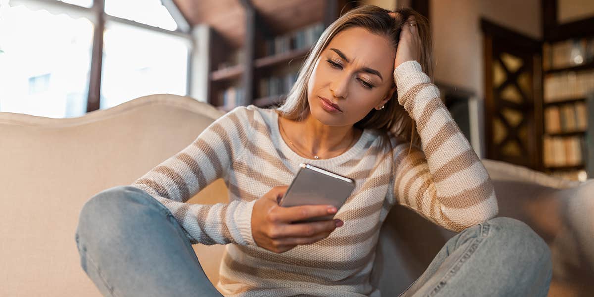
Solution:
<svg viewBox="0 0 594 297"><path fill-rule="evenodd" d="M498 213L484 165L416 61L394 70L398 101L415 120L422 151L395 150L391 197L446 229L460 232Z"/></svg>

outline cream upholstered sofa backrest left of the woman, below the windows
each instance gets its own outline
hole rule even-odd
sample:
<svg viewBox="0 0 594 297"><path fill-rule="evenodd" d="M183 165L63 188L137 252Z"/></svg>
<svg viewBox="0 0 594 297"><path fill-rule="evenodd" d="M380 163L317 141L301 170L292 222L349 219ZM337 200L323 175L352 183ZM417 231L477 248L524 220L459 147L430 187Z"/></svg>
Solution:
<svg viewBox="0 0 594 297"><path fill-rule="evenodd" d="M101 296L74 239L84 202L134 182L222 114L165 94L76 118L0 112L0 296ZM213 204L226 195L218 180L188 202ZM205 271L218 271L211 256L222 248L194 245Z"/></svg>

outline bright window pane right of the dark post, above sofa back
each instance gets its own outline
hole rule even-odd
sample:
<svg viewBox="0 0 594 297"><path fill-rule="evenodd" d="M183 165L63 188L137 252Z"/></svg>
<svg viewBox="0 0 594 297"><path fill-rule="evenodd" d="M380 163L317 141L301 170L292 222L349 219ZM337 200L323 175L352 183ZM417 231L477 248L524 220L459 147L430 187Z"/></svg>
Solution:
<svg viewBox="0 0 594 297"><path fill-rule="evenodd" d="M124 24L109 23L103 37L101 107L156 93L187 93L189 42Z"/></svg>

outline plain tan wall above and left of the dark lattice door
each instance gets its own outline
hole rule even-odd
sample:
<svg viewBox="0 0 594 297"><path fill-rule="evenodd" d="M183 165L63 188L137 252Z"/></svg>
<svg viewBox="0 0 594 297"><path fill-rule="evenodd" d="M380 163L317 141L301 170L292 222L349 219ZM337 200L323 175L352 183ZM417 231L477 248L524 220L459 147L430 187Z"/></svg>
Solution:
<svg viewBox="0 0 594 297"><path fill-rule="evenodd" d="M539 0L432 0L435 80L463 87L484 98L481 17L539 39Z"/></svg>

